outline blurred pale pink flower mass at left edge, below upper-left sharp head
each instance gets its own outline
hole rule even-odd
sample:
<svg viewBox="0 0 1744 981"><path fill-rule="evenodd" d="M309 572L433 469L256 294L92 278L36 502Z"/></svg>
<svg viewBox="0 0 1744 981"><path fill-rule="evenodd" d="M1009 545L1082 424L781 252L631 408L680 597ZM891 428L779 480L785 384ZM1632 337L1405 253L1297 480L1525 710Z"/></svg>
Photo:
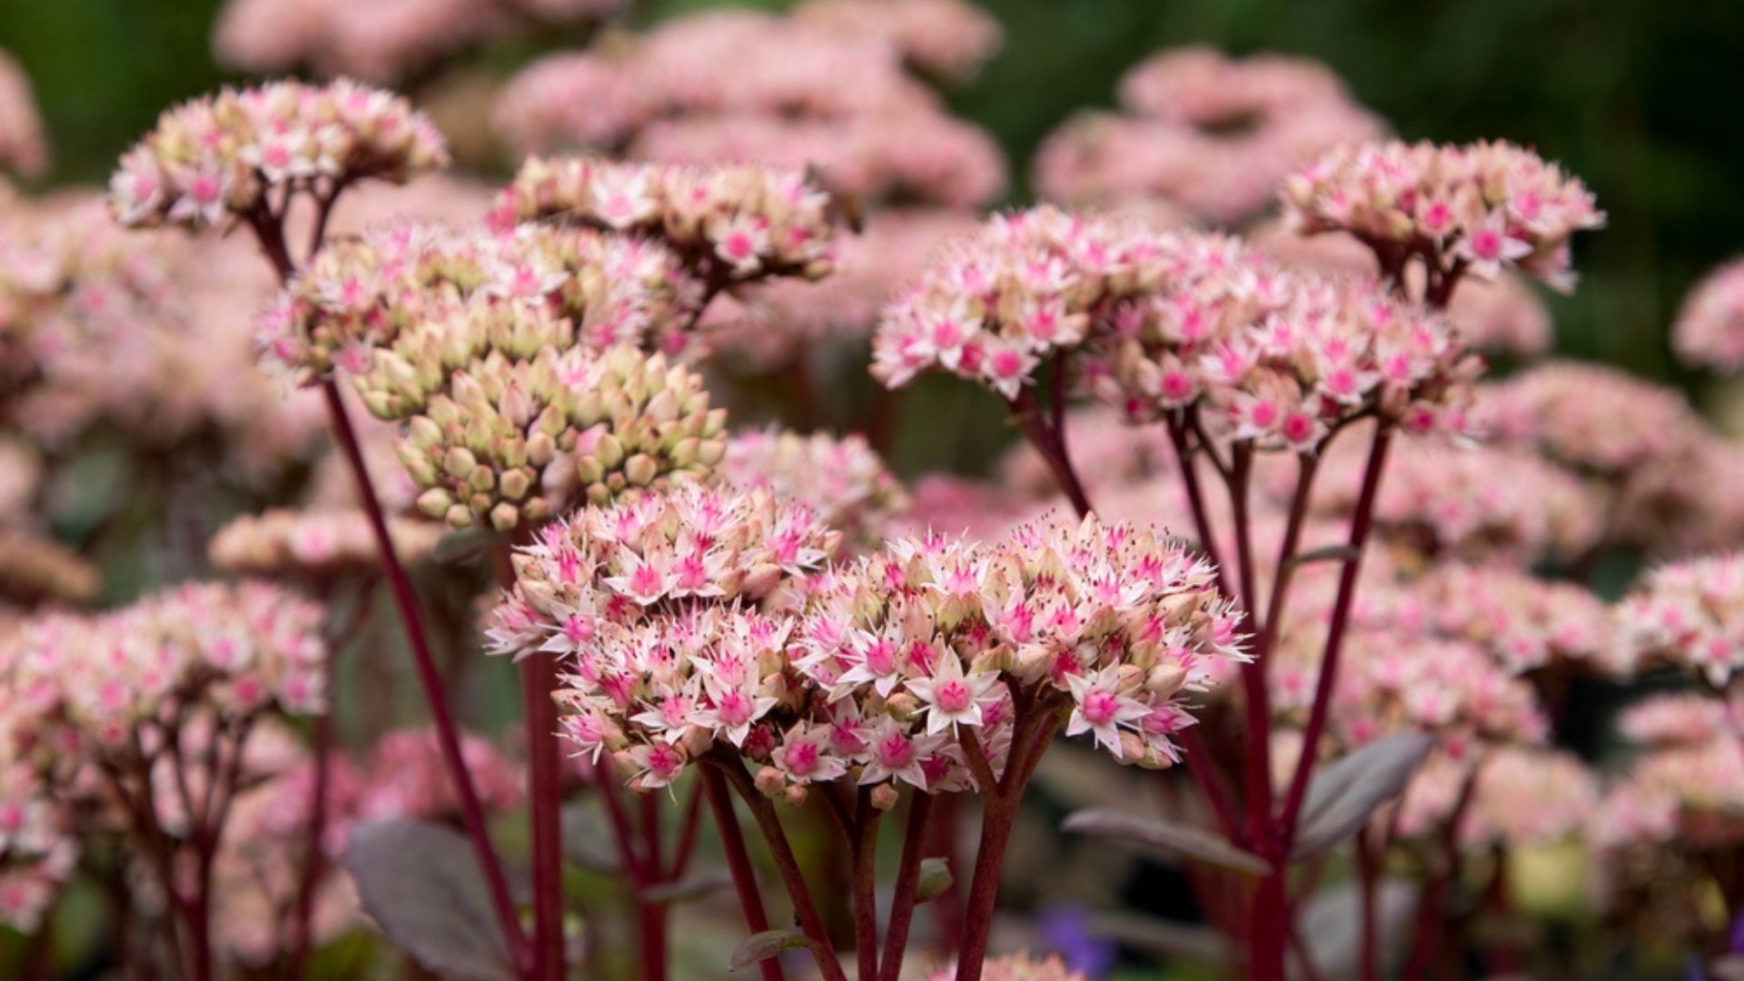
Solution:
<svg viewBox="0 0 1744 981"><path fill-rule="evenodd" d="M213 440L249 480L305 459L319 400L251 370L235 243L124 234L92 196L0 199L0 414L42 447L113 426L143 449ZM239 285L239 286L234 286Z"/></svg>

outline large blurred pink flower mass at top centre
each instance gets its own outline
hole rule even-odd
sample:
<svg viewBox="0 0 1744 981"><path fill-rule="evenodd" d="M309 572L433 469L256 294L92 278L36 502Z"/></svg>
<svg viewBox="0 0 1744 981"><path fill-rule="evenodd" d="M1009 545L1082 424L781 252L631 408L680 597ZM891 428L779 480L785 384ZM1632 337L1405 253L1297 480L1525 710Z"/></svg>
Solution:
<svg viewBox="0 0 1744 981"><path fill-rule="evenodd" d="M956 42L952 30L963 33ZM841 194L975 206L1005 185L999 148L945 115L903 72L903 56L966 68L985 30L982 14L954 0L698 14L616 52L534 63L508 86L497 117L523 152L816 166ZM855 84L842 86L848 77Z"/></svg>

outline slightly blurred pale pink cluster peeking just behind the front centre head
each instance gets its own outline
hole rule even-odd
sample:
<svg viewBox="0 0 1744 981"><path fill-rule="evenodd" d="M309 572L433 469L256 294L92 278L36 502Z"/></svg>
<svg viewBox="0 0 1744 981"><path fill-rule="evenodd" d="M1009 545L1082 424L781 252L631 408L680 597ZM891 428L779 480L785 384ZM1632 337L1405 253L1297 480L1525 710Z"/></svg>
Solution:
<svg viewBox="0 0 1744 981"><path fill-rule="evenodd" d="M734 487L764 487L809 504L851 548L875 546L909 506L902 484L858 433L734 433L715 473Z"/></svg>

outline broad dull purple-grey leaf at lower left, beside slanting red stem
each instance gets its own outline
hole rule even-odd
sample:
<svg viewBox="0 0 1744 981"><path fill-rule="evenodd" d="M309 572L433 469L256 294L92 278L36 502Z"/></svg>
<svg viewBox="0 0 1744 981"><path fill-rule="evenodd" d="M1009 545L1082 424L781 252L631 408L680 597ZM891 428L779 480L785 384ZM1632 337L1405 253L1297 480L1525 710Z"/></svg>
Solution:
<svg viewBox="0 0 1744 981"><path fill-rule="evenodd" d="M455 981L514 981L471 841L439 824L371 820L351 833L345 869L396 946Z"/></svg>

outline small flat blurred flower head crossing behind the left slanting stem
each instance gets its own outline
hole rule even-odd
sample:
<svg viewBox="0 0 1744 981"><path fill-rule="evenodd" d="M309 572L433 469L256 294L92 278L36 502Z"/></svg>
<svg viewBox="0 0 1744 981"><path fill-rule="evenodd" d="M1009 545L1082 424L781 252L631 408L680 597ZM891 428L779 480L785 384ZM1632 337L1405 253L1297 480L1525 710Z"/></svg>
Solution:
<svg viewBox="0 0 1744 981"><path fill-rule="evenodd" d="M391 517L387 532L401 562L434 552L441 525ZM237 576L330 580L378 569L382 555L368 517L351 510L270 508L239 515L208 545L213 566Z"/></svg>

